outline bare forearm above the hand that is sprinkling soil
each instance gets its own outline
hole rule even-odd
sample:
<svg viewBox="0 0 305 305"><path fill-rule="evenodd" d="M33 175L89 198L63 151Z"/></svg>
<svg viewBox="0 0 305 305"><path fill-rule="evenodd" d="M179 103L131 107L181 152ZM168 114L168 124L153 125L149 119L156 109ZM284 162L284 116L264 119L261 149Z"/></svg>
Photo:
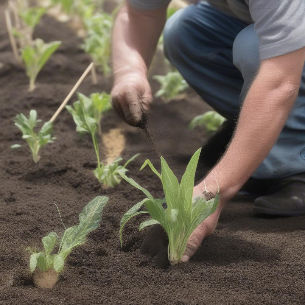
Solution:
<svg viewBox="0 0 305 305"><path fill-rule="evenodd" d="M125 3L112 34L115 80L126 73L146 75L166 20L166 8L142 12Z"/></svg>

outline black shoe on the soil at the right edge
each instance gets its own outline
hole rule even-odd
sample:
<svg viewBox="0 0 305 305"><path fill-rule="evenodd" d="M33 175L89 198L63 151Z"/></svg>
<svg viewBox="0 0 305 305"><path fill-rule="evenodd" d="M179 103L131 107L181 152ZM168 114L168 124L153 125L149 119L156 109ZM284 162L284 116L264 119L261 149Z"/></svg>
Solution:
<svg viewBox="0 0 305 305"><path fill-rule="evenodd" d="M305 215L305 173L266 182L268 194L255 199L255 212L277 216Z"/></svg>

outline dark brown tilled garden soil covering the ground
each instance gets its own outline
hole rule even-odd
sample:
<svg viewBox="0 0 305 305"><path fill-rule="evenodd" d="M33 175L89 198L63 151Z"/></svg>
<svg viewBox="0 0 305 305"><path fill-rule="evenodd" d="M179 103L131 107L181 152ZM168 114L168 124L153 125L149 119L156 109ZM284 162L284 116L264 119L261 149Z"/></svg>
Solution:
<svg viewBox="0 0 305 305"><path fill-rule="evenodd" d="M304 304L304 216L262 217L252 211L253 198L237 196L224 209L214 234L204 239L188 263L175 267L160 265L162 251L158 249L166 247L163 238L156 242L155 249L142 246L142 252L157 254L155 258L141 252L148 230L138 232L138 225L145 216L126 225L120 249L120 218L143 195L125 182L115 189L101 187L92 174L96 164L90 138L77 136L67 111L55 121L53 135L58 140L42 149L38 164L33 163L27 152L10 150L10 145L22 141L13 125L15 115L36 109L39 118L49 120L90 63L80 48L80 39L64 23L45 16L35 36L63 43L38 76L35 91L29 93L28 79L14 62L4 20L0 18L0 63L3 63L0 69L0 304ZM164 64L158 64L158 60L161 59L156 59L152 74L165 72ZM99 74L98 80L94 86L90 77L86 78L79 90L84 94L110 92L111 79ZM152 84L155 91L156 84ZM191 155L207 140L203 130L190 131L188 123L208 109L191 90L185 99L169 104L161 100L154 103L150 130L157 148L179 178ZM141 152L129 166L129 175L161 198L163 192L156 176L148 168L138 172L146 158L157 168L160 166L143 131L122 123L113 112L106 114L102 129L121 130L125 137L121 153L124 158ZM207 169L199 164L198 179ZM25 249L28 246L40 249L43 236L51 230L63 229L54 203L59 206L64 223L73 225L83 206L98 195L110 198L101 228L89 235L86 244L72 251L52 291L35 288Z"/></svg>

